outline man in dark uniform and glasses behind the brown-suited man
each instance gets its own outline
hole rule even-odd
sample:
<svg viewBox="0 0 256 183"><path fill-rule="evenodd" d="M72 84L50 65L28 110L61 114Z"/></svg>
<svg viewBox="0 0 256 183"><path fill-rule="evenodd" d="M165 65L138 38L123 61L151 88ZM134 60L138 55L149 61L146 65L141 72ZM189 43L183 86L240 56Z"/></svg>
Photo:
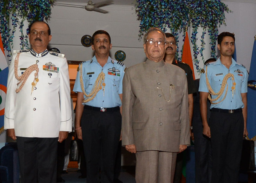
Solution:
<svg viewBox="0 0 256 183"><path fill-rule="evenodd" d="M166 35L166 52L164 61L169 64L174 64L183 69L186 73L186 78L188 82L188 99L189 99L189 126L192 129L192 116L193 116L193 93L196 92L194 78L191 68L188 64L177 61L175 59L175 54L177 50L176 40L174 35L171 33L165 33ZM184 152L177 154L176 166L175 166L175 175L174 175L174 183L179 183L181 174L182 174L182 164L183 164L183 154Z"/></svg>

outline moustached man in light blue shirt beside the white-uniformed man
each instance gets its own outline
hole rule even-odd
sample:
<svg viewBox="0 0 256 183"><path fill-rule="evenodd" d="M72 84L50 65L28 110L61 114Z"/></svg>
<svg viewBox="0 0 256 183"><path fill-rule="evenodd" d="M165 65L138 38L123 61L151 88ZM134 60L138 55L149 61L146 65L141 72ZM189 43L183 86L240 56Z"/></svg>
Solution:
<svg viewBox="0 0 256 183"><path fill-rule="evenodd" d="M122 79L125 66L109 57L108 32L93 34L95 56L79 66L74 92L76 133L83 139L87 183L113 183L116 153L122 125Z"/></svg>

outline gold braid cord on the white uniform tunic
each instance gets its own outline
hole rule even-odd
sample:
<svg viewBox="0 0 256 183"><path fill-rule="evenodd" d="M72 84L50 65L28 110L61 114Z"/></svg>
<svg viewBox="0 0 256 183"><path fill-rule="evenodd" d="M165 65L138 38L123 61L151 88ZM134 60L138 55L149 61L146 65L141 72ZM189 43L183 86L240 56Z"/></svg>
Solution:
<svg viewBox="0 0 256 183"><path fill-rule="evenodd" d="M29 75L35 70L35 78L34 78L34 82L32 82L32 91L33 91L34 86L39 81L39 79L38 79L38 72L39 72L38 64L33 64L33 65L29 66L21 76L18 76L17 71L18 71L19 57L20 57L20 53L17 53L15 62L14 62L14 76L18 81L20 81L17 83L17 85L19 85L20 83L21 83L21 85L20 85L20 87L17 87L15 92L16 93L20 92L20 90L26 83L26 80L29 77ZM31 91L31 93L32 93L32 91Z"/></svg>

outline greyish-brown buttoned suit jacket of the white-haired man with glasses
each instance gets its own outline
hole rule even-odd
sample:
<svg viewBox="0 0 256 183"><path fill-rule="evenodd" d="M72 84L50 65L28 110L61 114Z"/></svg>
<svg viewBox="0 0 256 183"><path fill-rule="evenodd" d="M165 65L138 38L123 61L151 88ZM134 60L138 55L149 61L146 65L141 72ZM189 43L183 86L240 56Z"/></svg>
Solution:
<svg viewBox="0 0 256 183"><path fill-rule="evenodd" d="M129 67L122 100L122 145L178 152L190 144L187 80L179 67L151 60Z"/></svg>

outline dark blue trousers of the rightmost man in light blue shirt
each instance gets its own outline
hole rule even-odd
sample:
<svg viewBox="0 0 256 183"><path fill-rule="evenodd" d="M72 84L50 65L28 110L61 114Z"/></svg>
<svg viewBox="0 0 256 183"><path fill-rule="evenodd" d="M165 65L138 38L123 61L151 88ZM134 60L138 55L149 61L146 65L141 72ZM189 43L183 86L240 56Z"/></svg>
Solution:
<svg viewBox="0 0 256 183"><path fill-rule="evenodd" d="M244 118L240 113L211 112L212 183L238 183Z"/></svg>

